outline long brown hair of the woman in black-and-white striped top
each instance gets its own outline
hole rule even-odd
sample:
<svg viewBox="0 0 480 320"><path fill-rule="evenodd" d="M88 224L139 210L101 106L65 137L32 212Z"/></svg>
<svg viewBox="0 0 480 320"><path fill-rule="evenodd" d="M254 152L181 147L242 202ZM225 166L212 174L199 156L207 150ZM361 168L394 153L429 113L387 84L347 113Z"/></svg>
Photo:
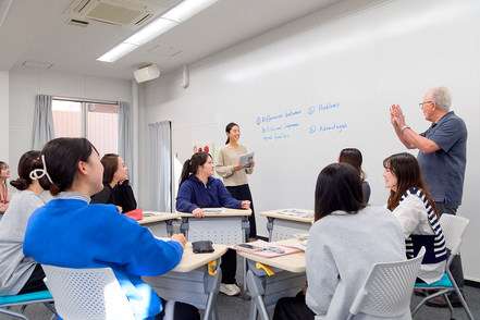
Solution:
<svg viewBox="0 0 480 320"><path fill-rule="evenodd" d="M383 168L389 169L397 180L396 192L390 190L389 201L386 202L389 210L393 211L398 206L399 199L408 189L418 188L427 197L436 217L439 217L435 204L421 177L420 165L414 156L407 152L392 155L383 160Z"/></svg>

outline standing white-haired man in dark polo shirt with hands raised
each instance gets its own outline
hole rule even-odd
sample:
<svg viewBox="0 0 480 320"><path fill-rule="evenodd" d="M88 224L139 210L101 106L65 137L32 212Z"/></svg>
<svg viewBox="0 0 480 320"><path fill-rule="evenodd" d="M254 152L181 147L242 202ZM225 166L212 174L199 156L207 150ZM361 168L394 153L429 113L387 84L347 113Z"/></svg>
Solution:
<svg viewBox="0 0 480 320"><path fill-rule="evenodd" d="M446 87L431 89L419 104L424 119L432 123L424 133L417 134L405 123L405 115L398 104L393 104L390 109L390 120L405 147L419 149L417 160L439 213L456 214L464 192L467 126L460 118L450 111L452 95ZM455 257L451 271L458 287L464 292L464 272L459 256ZM452 295L448 298L454 307L461 307L456 296ZM442 296L430 299L427 305L447 307Z"/></svg>

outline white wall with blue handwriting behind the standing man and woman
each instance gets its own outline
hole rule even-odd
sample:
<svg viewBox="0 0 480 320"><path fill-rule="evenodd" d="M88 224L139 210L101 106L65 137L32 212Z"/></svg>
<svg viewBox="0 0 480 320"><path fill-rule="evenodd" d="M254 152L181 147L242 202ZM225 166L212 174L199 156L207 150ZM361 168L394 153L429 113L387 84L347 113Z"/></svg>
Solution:
<svg viewBox="0 0 480 320"><path fill-rule="evenodd" d="M260 36L196 62L190 66L187 89L180 87L179 73L147 83L144 125L172 121L173 152L179 153L183 162L190 156L190 144L213 141L214 149L219 149L224 144L225 124L243 121L246 125L241 124L241 143L260 153L267 147L254 124L257 115L283 112L290 106L305 111L316 101L341 99L342 106L348 108L339 111L337 115L349 121L349 127L355 128L353 134L309 139L313 144L308 146L300 136L297 144L279 143L278 148L268 147L269 155L263 159L256 159L258 173L250 177L250 188L257 213L279 209L273 208L275 204L281 204L280 208L285 204L312 208L315 177L319 170L334 162L342 147L356 145L367 150L364 158L369 158L364 169L372 185L371 204L381 206L387 197L381 177L382 160L405 151L390 125L390 104L404 106L408 123L422 132L429 123L422 119L418 102L430 87L446 85L454 93L453 110L464 118L469 130L464 204L459 209L460 216L470 219L463 261L466 278L480 281L476 247L480 241L476 232L480 224L476 212L480 179L480 169L476 165L480 156L477 108L480 3L475 0L398 0L346 16L352 13L348 4L354 2L344 1L330 8L330 14L313 14L318 19L306 17L272 30L269 34L285 35L283 39L275 38L274 44ZM307 21L309 26L305 25ZM299 25L305 33L298 34ZM316 25L320 27L315 28ZM264 48L259 46L259 39ZM148 134L145 139L148 146ZM144 156L148 162L146 151ZM312 161L305 160L312 156L318 159L313 168ZM278 161L271 161L272 157ZM271 173L272 185L260 168L270 170L274 165L278 168ZM304 177L292 177L298 173ZM284 175L297 183L300 179L300 187L295 189L288 184L290 180L282 180ZM141 180L147 183L148 177L144 175ZM147 190L145 186L144 189ZM297 195L298 189L305 190L305 195ZM259 233L266 235L266 220L257 217L257 223Z"/></svg>

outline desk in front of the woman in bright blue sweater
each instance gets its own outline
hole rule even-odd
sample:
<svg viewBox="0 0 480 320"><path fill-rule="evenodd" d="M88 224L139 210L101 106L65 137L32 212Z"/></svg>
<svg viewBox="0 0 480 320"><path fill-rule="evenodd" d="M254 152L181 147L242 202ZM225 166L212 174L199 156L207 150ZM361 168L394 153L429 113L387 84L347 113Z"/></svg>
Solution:
<svg viewBox="0 0 480 320"><path fill-rule="evenodd" d="M188 242L182 260L175 268L163 275L141 279L163 299L205 309L204 320L216 320L216 299L222 281L220 257L226 253L227 247L213 244L213 253L194 254L192 243Z"/></svg>

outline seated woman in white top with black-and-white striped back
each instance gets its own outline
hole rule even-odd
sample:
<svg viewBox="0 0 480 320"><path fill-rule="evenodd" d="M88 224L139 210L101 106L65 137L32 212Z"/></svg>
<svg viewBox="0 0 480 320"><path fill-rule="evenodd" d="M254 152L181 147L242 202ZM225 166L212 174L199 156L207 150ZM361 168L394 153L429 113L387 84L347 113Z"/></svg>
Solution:
<svg viewBox="0 0 480 320"><path fill-rule="evenodd" d="M407 257L417 256L422 246L427 250L418 281L428 284L436 282L445 272L445 239L417 159L410 153L396 153L383 160L383 167L385 188L391 189L386 206L404 231Z"/></svg>

